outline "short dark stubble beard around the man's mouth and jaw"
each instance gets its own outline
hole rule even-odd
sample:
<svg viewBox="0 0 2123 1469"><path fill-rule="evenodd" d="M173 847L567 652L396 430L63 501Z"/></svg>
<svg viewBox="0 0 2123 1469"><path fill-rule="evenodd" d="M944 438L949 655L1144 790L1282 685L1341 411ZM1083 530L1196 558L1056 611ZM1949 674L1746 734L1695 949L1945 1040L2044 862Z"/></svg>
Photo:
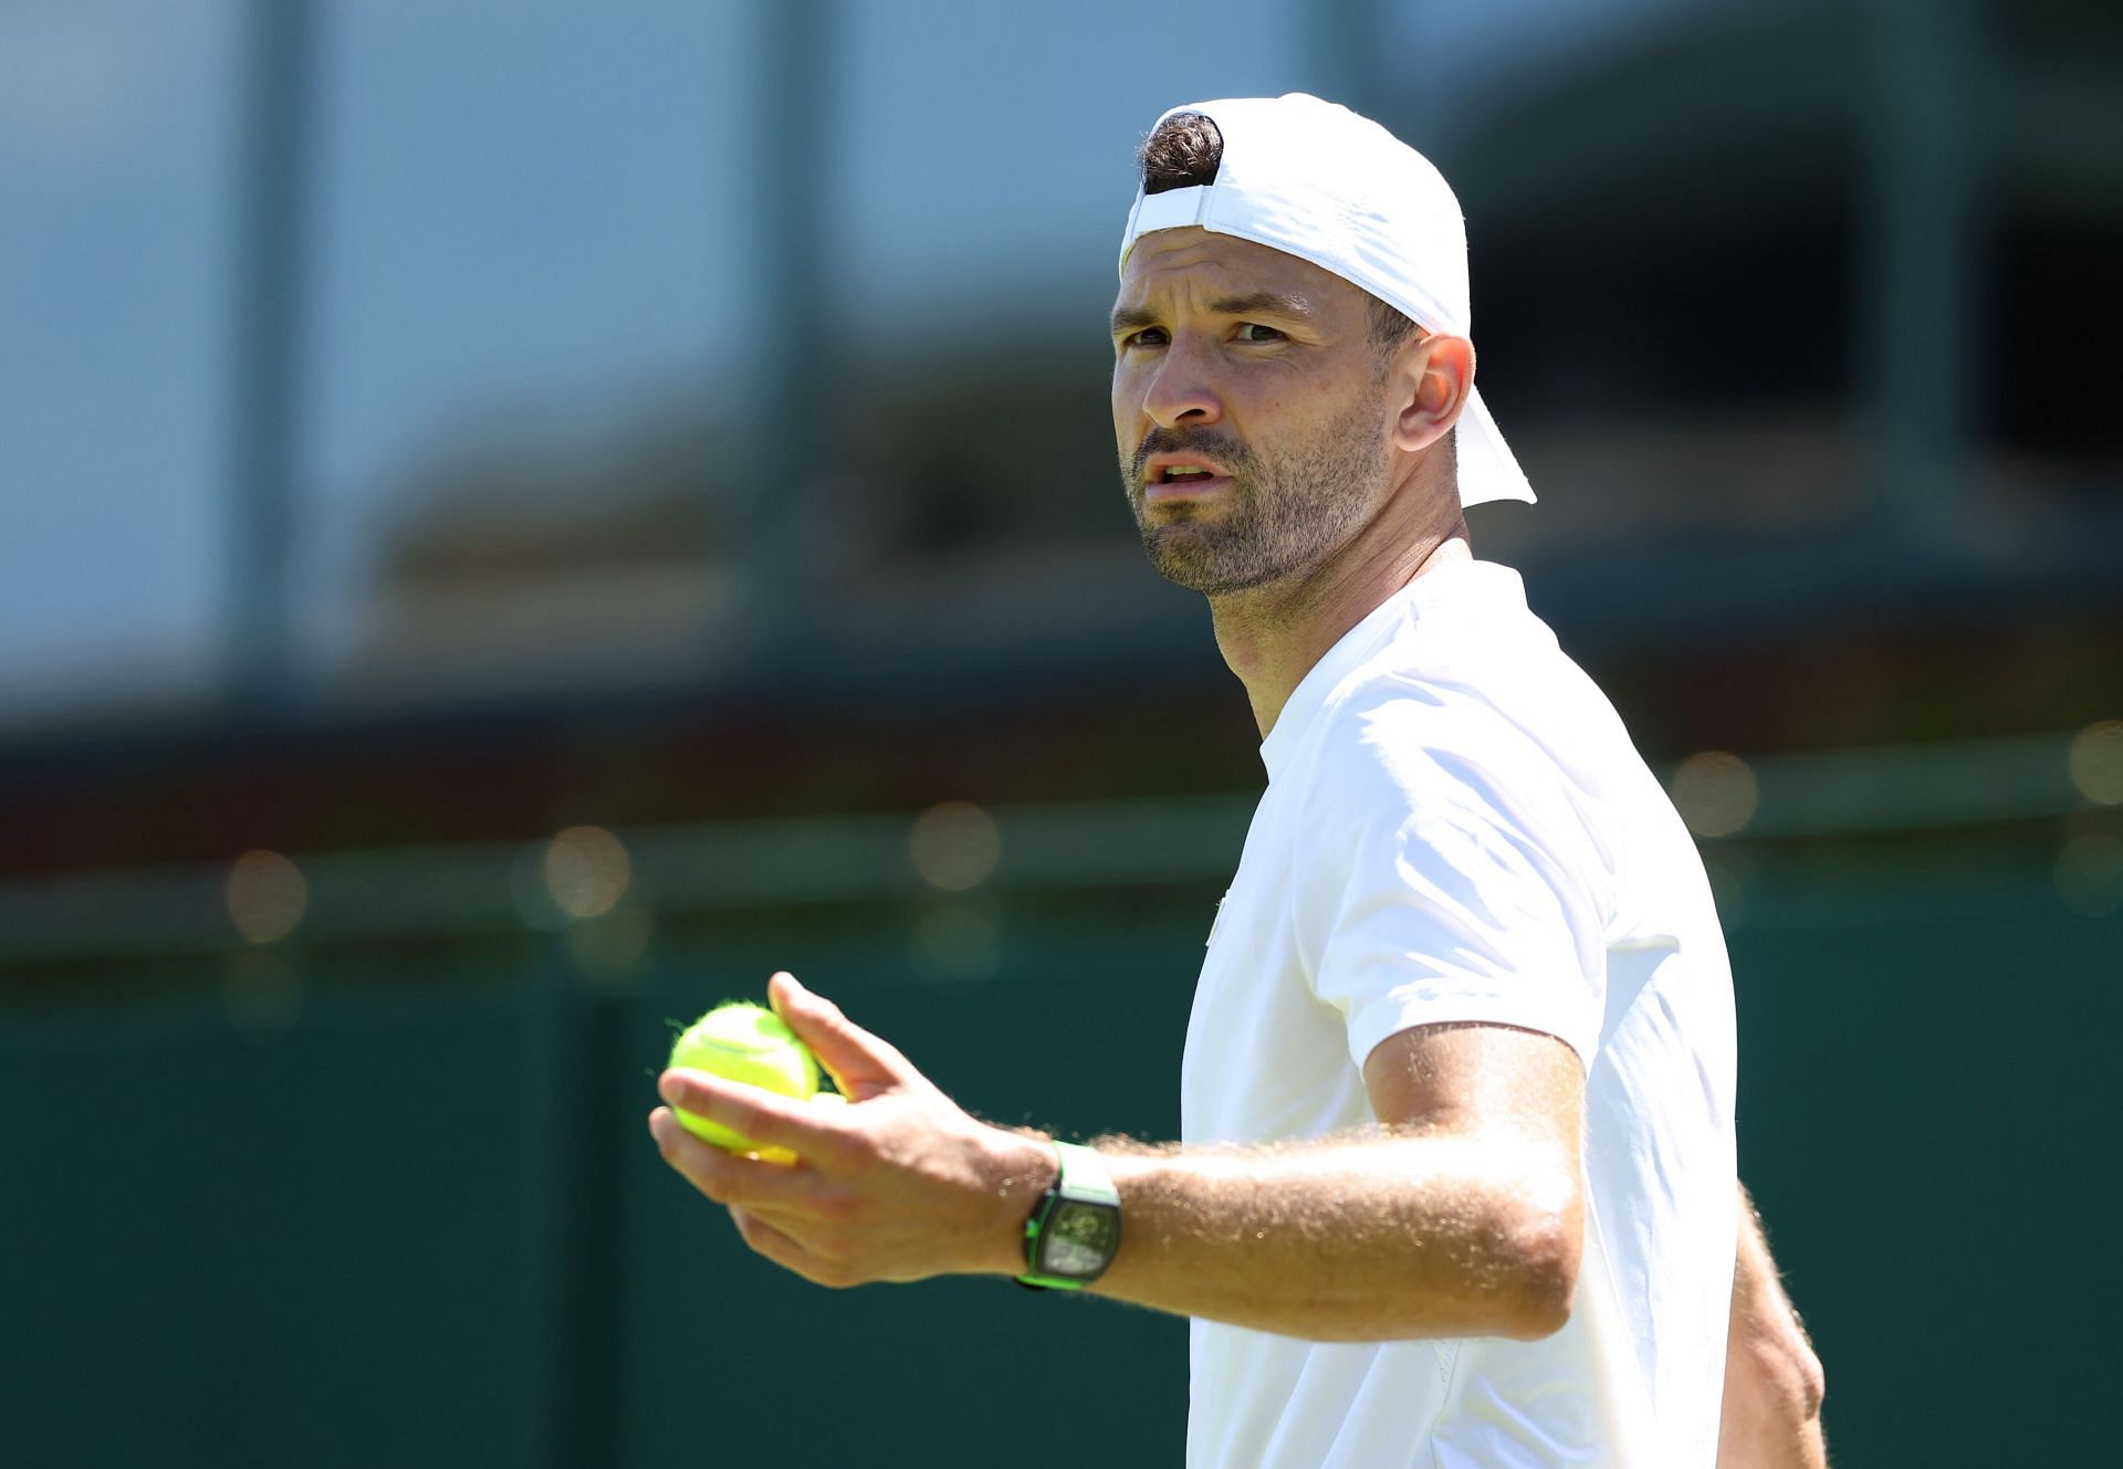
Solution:
<svg viewBox="0 0 2123 1469"><path fill-rule="evenodd" d="M1157 575L1204 597L1242 592L1318 567L1363 524L1388 469L1378 408L1357 403L1287 450L1255 452L1216 435L1153 433L1123 463L1127 503ZM1140 492L1140 461L1153 452L1202 452L1231 471L1221 507L1183 507L1153 520Z"/></svg>

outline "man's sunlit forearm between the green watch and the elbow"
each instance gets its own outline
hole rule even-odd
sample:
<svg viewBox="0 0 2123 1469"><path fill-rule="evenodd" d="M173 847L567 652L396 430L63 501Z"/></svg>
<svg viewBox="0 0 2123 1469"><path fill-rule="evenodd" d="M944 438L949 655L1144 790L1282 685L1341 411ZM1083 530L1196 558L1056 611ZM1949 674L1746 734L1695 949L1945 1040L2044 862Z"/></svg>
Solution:
<svg viewBox="0 0 2123 1469"><path fill-rule="evenodd" d="M1316 1342L1539 1337L1569 1318L1577 1159L1495 1136L1102 1148L1121 1252L1102 1295Z"/></svg>

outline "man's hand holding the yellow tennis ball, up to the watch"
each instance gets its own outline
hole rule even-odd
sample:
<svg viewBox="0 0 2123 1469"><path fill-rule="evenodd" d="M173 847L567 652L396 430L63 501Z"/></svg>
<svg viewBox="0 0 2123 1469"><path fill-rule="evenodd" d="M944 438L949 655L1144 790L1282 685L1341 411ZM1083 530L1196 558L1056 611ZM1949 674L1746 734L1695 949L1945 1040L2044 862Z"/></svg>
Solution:
<svg viewBox="0 0 2123 1469"><path fill-rule="evenodd" d="M966 1114L896 1047L790 974L766 998L811 1047L845 1108L822 1108L707 1072L667 1070L664 1102L796 1163L701 1142L669 1106L650 1112L664 1161L730 1210L754 1250L824 1286L1021 1274L1023 1223L1053 1182L1053 1148Z"/></svg>

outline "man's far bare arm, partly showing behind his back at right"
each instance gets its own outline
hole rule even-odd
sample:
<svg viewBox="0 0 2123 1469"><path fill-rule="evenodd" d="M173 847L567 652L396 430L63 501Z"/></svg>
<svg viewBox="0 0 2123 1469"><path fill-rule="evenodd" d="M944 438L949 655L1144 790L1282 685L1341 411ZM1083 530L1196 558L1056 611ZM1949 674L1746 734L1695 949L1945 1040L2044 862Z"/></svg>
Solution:
<svg viewBox="0 0 2123 1469"><path fill-rule="evenodd" d="M1826 1469L1822 1395L1822 1361L1783 1293L1762 1219L1743 1187L1718 1469Z"/></svg>

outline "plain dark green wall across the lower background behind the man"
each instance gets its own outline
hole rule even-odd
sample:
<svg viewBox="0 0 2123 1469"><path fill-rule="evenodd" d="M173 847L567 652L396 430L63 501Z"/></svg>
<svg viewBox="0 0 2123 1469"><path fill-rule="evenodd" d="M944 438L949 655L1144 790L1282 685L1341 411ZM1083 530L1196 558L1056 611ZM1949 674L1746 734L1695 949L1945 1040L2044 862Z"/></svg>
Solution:
<svg viewBox="0 0 2123 1469"><path fill-rule="evenodd" d="M1970 900L1968 894L1981 894ZM790 964L974 1110L1170 1136L1199 902L907 945L667 936L631 991L378 974L0 1017L0 1461L1178 1463L1185 1329L1000 1282L817 1291L656 1159L667 1019ZM2123 921L2047 866L1768 868L1732 928L1741 1159L1849 1465L2091 1463ZM711 1450L720 1444L720 1450Z"/></svg>

